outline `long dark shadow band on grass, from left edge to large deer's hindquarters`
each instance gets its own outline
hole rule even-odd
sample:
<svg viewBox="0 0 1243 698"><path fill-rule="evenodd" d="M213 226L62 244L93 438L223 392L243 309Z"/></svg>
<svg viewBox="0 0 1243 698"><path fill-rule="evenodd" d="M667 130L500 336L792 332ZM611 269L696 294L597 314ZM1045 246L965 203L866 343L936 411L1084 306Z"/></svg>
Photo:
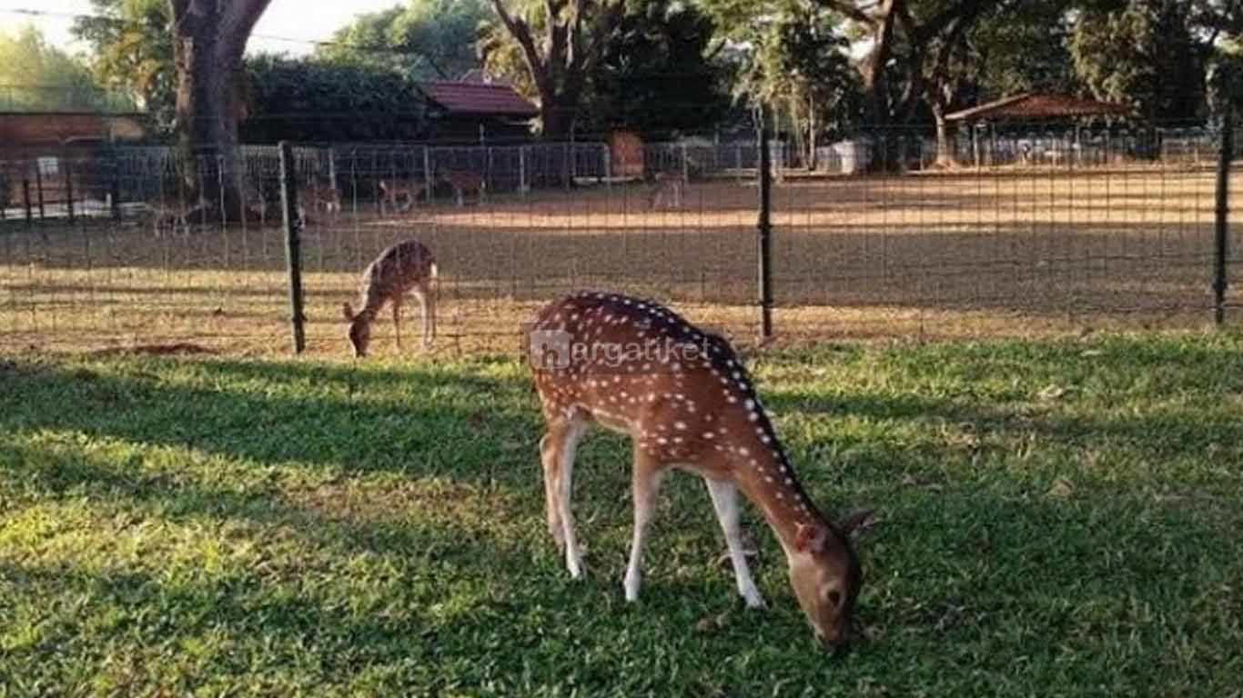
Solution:
<svg viewBox="0 0 1243 698"><path fill-rule="evenodd" d="M542 427L530 391L520 379L430 365L19 365L0 373L0 425L260 463L526 484Z"/></svg>

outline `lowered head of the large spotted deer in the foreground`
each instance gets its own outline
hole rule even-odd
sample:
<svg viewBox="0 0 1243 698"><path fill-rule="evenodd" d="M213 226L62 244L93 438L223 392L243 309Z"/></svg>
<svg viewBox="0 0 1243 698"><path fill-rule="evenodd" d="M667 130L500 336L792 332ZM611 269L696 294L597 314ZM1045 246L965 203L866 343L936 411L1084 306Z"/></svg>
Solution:
<svg viewBox="0 0 1243 698"><path fill-rule="evenodd" d="M861 510L835 525L802 524L787 550L794 596L825 648L842 650L850 640L855 599L863 585L853 539L873 523L874 513Z"/></svg>

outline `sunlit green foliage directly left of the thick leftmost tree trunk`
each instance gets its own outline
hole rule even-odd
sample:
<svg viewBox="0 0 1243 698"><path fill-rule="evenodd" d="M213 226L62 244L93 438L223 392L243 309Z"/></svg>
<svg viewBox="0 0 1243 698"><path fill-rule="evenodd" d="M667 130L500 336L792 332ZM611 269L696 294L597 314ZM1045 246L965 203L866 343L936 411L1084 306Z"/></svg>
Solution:
<svg viewBox="0 0 1243 698"><path fill-rule="evenodd" d="M109 89L128 94L155 127L173 129L177 75L168 0L91 0L92 15L73 35L91 46L91 70Z"/></svg>

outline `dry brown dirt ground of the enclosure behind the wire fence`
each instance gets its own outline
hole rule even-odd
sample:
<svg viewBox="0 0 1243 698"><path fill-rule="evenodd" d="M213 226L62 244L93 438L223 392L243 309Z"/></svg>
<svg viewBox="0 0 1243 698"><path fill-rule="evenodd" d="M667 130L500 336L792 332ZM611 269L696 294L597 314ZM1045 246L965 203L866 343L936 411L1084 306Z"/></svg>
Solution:
<svg viewBox="0 0 1243 698"><path fill-rule="evenodd" d="M1234 176L1233 191L1241 185ZM367 262L406 237L440 263L438 351L517 350L530 312L577 288L663 298L752 340L755 185L692 183L680 210L649 210L645 194L584 185L393 216L347 200L303 233L308 350L346 355L341 303L355 299ZM1209 169L792 178L774 189L773 207L778 342L1195 329L1212 319ZM1231 255L1243 276L1237 247ZM1232 292L1232 303L1241 298ZM1229 314L1239 324L1243 308ZM158 236L140 215L0 221L2 351L273 355L288 351L288 315L275 226ZM404 350L414 353L416 303L404 318ZM378 351L397 350L387 313L375 334Z"/></svg>

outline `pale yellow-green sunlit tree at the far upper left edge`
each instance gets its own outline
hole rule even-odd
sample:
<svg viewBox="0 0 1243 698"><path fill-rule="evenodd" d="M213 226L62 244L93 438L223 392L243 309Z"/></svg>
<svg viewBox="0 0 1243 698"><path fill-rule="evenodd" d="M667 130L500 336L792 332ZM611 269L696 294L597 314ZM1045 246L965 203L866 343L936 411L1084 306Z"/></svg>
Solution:
<svg viewBox="0 0 1243 698"><path fill-rule="evenodd" d="M91 71L50 46L34 26L0 31L0 111L132 111L133 104L104 91Z"/></svg>

